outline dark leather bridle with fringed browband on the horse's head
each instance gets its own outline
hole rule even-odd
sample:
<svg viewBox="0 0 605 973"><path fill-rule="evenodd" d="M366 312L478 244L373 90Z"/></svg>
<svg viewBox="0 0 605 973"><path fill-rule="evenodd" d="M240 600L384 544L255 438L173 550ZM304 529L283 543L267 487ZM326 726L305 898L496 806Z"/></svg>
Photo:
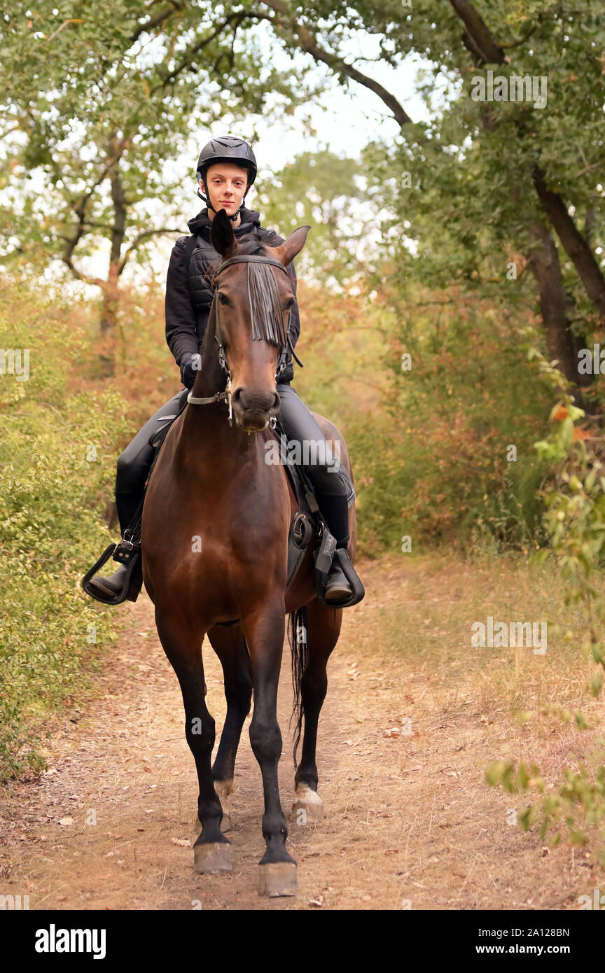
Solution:
<svg viewBox="0 0 605 973"><path fill-rule="evenodd" d="M216 271L214 280L216 283L216 278L223 270L227 270L232 264L248 264L248 300L250 302L250 316L252 319L252 338L254 341L266 341L271 344L277 345L281 348L281 353L279 356L279 362L277 366L277 371L279 372L280 365L284 359L286 347L287 347L287 327L284 327L281 318L281 308L279 309L278 318L277 310L277 292L275 289L275 282L273 276L269 271L261 271L261 275L256 274L254 271L251 274L250 271L253 270L250 265L254 264L264 264L266 267L273 266L278 267L283 270L284 273L288 271L280 261L275 260L273 257L261 257L257 254L242 254L239 257L230 257L226 260L219 269ZM260 269L259 269L260 270ZM217 392L216 395L210 395L207 397L200 397L193 394L193 390L187 396L187 401L192 406L208 406L214 402L226 401L229 407L229 424L233 424L233 413L231 408L231 371L227 363L227 355L225 354L225 346L222 341L221 334L221 319L219 314L219 303L217 301L217 292L215 290L214 297L212 299L212 306L216 302L216 307L214 308L215 314L215 329L214 329L214 340L219 346L219 364L225 375L227 376L227 384L225 386L225 391ZM212 307L210 308L212 311Z"/></svg>

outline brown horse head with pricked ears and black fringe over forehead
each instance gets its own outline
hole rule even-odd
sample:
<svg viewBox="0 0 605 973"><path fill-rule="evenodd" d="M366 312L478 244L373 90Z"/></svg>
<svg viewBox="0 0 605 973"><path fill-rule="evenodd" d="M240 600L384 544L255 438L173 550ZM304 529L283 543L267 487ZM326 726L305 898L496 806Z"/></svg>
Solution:
<svg viewBox="0 0 605 973"><path fill-rule="evenodd" d="M286 268L309 230L299 227L280 246L267 247L254 237L238 241L224 210L212 221L210 240L223 259L215 273L208 333L224 356L235 422L246 432L266 429L279 411L275 373L296 303Z"/></svg>

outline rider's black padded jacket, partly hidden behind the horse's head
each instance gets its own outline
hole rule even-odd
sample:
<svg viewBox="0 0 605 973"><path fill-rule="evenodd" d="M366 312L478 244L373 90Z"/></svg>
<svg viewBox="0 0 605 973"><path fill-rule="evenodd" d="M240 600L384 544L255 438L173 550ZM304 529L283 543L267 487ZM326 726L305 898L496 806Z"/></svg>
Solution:
<svg viewBox="0 0 605 973"><path fill-rule="evenodd" d="M279 246L283 237L272 230L261 226L260 214L254 209L244 206L240 213L241 222L233 228L235 236L254 233L267 246ZM210 242L212 222L208 218L208 210L201 212L188 221L192 234L196 234L197 246L192 253L189 274L185 270L183 256L188 236L179 236L172 248L168 274L166 277L166 342L176 359L176 363L183 369L192 355L197 354L203 340L210 305L212 304L212 288L205 276L210 264L218 258L218 253ZM288 273L293 278L294 293L297 290L297 275L294 261L288 265ZM295 345L301 333L299 307L295 304L290 312L289 333L292 344ZM294 378L292 355L288 351L287 366L280 377L280 381L291 381Z"/></svg>

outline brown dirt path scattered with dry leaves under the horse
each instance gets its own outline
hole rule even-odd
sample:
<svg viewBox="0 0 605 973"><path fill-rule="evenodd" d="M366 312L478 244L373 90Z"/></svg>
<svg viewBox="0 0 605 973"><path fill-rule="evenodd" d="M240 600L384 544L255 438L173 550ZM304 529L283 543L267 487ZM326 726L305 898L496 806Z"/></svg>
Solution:
<svg viewBox="0 0 605 973"><path fill-rule="evenodd" d="M509 731L471 699L440 711L430 673L377 643L384 619L430 590L419 568L366 562L367 598L346 611L329 667L318 765L326 819L290 825L299 863L296 899L257 896L263 798L247 726L235 769L226 877L198 876L192 845L196 775L176 677L146 596L123 610L131 633L110 651L97 699L66 719L49 771L2 795L0 893L32 909L565 909L598 882L588 860L506 824L511 797L482 768ZM434 597L437 601L439 595ZM204 649L208 705L222 726L218 660ZM284 656L280 785L293 797L287 733L292 690ZM411 718L409 734L402 719ZM218 736L218 735L217 735ZM95 822L95 823L94 823ZM198 906L197 906L198 907Z"/></svg>

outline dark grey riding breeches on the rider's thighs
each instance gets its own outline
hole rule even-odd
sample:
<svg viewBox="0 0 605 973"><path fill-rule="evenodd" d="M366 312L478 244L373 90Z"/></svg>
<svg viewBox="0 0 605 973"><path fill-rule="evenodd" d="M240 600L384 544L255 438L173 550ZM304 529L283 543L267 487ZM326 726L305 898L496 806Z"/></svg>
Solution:
<svg viewBox="0 0 605 973"><path fill-rule="evenodd" d="M317 421L289 384L278 383L277 392L286 437L295 448L291 454L296 462L303 463L317 493L324 497L342 498L338 506L343 506L345 512L350 482L346 471L340 469L339 444L326 441ZM123 531L136 513L154 459L156 450L149 445L150 436L164 424L162 420L179 414L187 394L188 389L180 389L152 415L118 460L116 506ZM290 449L288 451L290 454Z"/></svg>

